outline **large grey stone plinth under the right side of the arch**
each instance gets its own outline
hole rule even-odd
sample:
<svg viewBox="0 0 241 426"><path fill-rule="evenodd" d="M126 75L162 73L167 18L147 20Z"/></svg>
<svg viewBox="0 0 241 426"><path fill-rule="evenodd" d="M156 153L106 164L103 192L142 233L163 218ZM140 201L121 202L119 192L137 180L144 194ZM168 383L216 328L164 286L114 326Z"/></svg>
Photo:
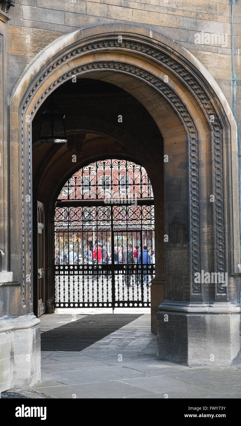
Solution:
<svg viewBox="0 0 241 426"><path fill-rule="evenodd" d="M240 307L164 301L157 312L157 359L231 366L240 357Z"/></svg>

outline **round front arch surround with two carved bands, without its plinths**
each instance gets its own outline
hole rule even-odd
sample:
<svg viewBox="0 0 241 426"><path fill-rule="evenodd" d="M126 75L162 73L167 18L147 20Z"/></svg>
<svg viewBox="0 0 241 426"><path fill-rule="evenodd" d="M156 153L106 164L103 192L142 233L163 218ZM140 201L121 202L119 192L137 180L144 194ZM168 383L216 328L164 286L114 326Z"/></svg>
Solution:
<svg viewBox="0 0 241 426"><path fill-rule="evenodd" d="M119 36L121 42L119 41ZM207 293L194 281L201 264L201 229L207 229L204 199L207 172L200 164L200 147L204 150L203 130L212 141L212 209L214 247L208 248L215 272L229 273L230 294L217 285L215 302L235 303L235 275L238 275L240 251L234 234L239 235L239 213L235 188L238 188L237 128L232 112L220 88L200 62L186 49L158 33L139 26L105 25L78 30L61 37L34 60L15 87L9 101L10 116L10 186L13 170L17 170L21 191L10 193L15 212L22 216L17 230L23 264L11 262L13 271L22 282L23 313L31 312L32 290L26 284L26 274L32 275L32 204L26 196L32 192L31 120L47 96L65 81L96 73L125 75L151 87L174 109L186 129L189 160L189 236L190 236L190 297L206 303ZM165 76L168 77L167 81ZM115 81L115 77L113 77ZM157 117L154 118L157 120ZM147 155L147 153L144 153ZM11 160L12 155L12 160ZM20 167L19 167L20 166ZM155 168L155 166L153 166ZM155 170L153 171L155 174ZM200 193L200 187L202 192ZM209 194L208 194L209 195ZM162 194L160 193L160 196ZM21 207L20 207L21 206ZM163 212L159 212L160 216ZM11 217L13 226L14 216ZM160 221L162 223L162 220ZM212 244L211 244L212 245ZM19 249L18 249L19 251ZM13 240L10 258L16 257ZM11 254L12 253L12 254ZM159 284L163 276L157 276ZM205 291L204 291L205 290ZM203 299L203 294L205 297ZM231 309L231 308L230 308ZM236 311L235 311L236 312Z"/></svg>

